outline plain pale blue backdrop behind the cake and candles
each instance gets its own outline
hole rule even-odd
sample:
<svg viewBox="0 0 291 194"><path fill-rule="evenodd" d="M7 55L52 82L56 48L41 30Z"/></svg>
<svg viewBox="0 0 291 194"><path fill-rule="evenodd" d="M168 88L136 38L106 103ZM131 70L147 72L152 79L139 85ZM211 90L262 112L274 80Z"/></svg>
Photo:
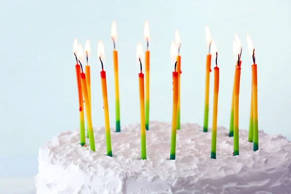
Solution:
<svg viewBox="0 0 291 194"><path fill-rule="evenodd" d="M252 59L257 51L259 129L290 136L291 1L264 0L2 0L0 6L0 176L33 176L45 141L79 127L73 41L91 43L92 116L104 125L97 44L105 46L110 123L114 120L113 43L117 25L121 125L139 122L136 46L149 22L150 120L171 121L170 44L181 36L181 122L203 124L208 25L219 52L218 125L229 127L235 33L242 42L240 129L248 129ZM212 58L212 64L214 59ZM210 75L210 117L212 82Z"/></svg>

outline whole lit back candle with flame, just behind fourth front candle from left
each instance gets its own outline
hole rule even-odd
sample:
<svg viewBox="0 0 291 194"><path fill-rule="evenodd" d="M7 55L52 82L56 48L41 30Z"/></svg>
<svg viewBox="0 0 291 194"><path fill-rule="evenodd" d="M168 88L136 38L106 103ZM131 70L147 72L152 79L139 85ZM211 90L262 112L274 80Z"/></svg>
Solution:
<svg viewBox="0 0 291 194"><path fill-rule="evenodd" d="M145 32L144 36L146 39L146 130L149 129L149 50L148 50L148 42L150 40L149 37L149 27L148 22L145 23Z"/></svg>

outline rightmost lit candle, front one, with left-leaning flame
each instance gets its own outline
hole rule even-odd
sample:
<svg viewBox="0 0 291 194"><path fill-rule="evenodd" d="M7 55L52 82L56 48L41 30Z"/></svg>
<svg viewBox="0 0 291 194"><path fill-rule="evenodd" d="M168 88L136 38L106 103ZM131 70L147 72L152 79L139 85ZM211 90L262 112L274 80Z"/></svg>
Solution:
<svg viewBox="0 0 291 194"><path fill-rule="evenodd" d="M257 64L256 53L253 46L253 42L250 36L247 34L247 45L250 55L253 58L252 65L252 102L253 109L253 149L257 151L259 149L259 129L258 129L258 78L257 78Z"/></svg>

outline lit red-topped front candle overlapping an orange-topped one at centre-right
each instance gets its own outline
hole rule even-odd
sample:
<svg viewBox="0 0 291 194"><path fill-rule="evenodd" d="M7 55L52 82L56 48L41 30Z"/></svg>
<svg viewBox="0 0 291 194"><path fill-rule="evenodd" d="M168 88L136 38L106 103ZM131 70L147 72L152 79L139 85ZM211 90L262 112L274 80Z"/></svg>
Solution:
<svg viewBox="0 0 291 194"><path fill-rule="evenodd" d="M177 48L174 42L171 44L171 56L172 63L177 59ZM176 66L178 62L175 63L175 71L172 73L173 79L173 111L172 111L172 132L171 132L171 149L170 149L170 160L175 160L176 158L176 136L177 136L177 111L178 111L178 72L176 71Z"/></svg>

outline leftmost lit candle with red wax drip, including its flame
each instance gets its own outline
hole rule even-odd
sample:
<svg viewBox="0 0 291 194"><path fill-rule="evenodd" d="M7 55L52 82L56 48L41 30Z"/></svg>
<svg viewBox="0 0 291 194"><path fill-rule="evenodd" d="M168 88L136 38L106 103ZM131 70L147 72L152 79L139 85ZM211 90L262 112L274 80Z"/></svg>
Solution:
<svg viewBox="0 0 291 194"><path fill-rule="evenodd" d="M81 66L78 64L78 41L74 40L74 55L76 57L77 64L75 65L76 69L76 78L78 86L78 98L79 98L79 114L80 114L80 144L84 146L85 141L85 121L84 121L84 109L83 109L83 95L82 95L82 85L81 85Z"/></svg>

